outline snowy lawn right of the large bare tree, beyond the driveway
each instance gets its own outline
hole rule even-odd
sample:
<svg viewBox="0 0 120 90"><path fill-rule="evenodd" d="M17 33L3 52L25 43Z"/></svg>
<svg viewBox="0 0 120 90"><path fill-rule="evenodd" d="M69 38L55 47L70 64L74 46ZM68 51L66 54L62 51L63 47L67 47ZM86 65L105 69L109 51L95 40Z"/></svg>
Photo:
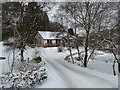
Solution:
<svg viewBox="0 0 120 90"><path fill-rule="evenodd" d="M88 64L88 68L92 68L93 70L107 73L113 75L113 61L114 56L111 53L101 52L102 55L97 55L95 61L90 61ZM118 65L115 65L116 73L118 73Z"/></svg>

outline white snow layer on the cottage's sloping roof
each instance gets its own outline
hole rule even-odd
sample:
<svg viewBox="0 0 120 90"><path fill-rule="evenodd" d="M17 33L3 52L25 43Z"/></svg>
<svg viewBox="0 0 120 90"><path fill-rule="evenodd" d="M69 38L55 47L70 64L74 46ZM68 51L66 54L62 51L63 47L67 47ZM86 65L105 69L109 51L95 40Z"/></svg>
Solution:
<svg viewBox="0 0 120 90"><path fill-rule="evenodd" d="M59 37L57 37L59 32L38 31L38 33L43 37L43 39L59 39Z"/></svg>

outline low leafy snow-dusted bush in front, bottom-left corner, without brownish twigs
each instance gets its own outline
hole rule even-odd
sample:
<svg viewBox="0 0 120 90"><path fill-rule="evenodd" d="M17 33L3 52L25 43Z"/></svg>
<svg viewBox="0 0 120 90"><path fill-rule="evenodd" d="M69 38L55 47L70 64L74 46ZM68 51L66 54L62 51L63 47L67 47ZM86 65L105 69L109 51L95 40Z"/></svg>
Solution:
<svg viewBox="0 0 120 90"><path fill-rule="evenodd" d="M4 88L33 88L41 85L47 79L47 74L40 69L27 70L27 72L6 73L1 79Z"/></svg>

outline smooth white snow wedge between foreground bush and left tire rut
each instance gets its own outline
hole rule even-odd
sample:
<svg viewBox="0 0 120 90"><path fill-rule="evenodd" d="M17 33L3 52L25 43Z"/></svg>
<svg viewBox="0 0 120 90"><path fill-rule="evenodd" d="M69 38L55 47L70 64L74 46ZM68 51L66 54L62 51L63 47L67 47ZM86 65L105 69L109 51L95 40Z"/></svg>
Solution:
<svg viewBox="0 0 120 90"><path fill-rule="evenodd" d="M45 60L45 62L47 61ZM42 85L36 86L36 88L67 88L63 79L59 76L59 73L56 73L54 67L51 66L48 62L46 64L46 68L48 75L47 80L44 83L42 83Z"/></svg>

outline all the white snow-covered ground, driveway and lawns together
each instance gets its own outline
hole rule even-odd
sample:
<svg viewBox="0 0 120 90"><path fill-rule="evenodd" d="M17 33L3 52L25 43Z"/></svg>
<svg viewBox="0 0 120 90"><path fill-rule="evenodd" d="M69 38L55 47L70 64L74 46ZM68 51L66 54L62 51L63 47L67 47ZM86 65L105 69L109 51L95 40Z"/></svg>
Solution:
<svg viewBox="0 0 120 90"><path fill-rule="evenodd" d="M0 42L2 56L6 57L2 70L8 70L8 52ZM75 52L75 50L73 50ZM16 57L19 57L19 53ZM112 72L114 57L110 53L98 51L95 61L90 61L87 68L71 64L64 60L69 54L68 50L57 52L56 47L51 48L30 48L25 51L25 58L32 59L35 53L42 56L47 67L47 80L36 88L117 88L118 76ZM12 54L12 53L10 53ZM0 54L1 55L1 54ZM11 56L11 55L10 55ZM11 60L12 57L9 57ZM106 63L106 61L108 61ZM1 63L1 62L0 62ZM1 65L1 64L0 64ZM91 69L92 68L92 69ZM117 69L117 68L116 68Z"/></svg>

